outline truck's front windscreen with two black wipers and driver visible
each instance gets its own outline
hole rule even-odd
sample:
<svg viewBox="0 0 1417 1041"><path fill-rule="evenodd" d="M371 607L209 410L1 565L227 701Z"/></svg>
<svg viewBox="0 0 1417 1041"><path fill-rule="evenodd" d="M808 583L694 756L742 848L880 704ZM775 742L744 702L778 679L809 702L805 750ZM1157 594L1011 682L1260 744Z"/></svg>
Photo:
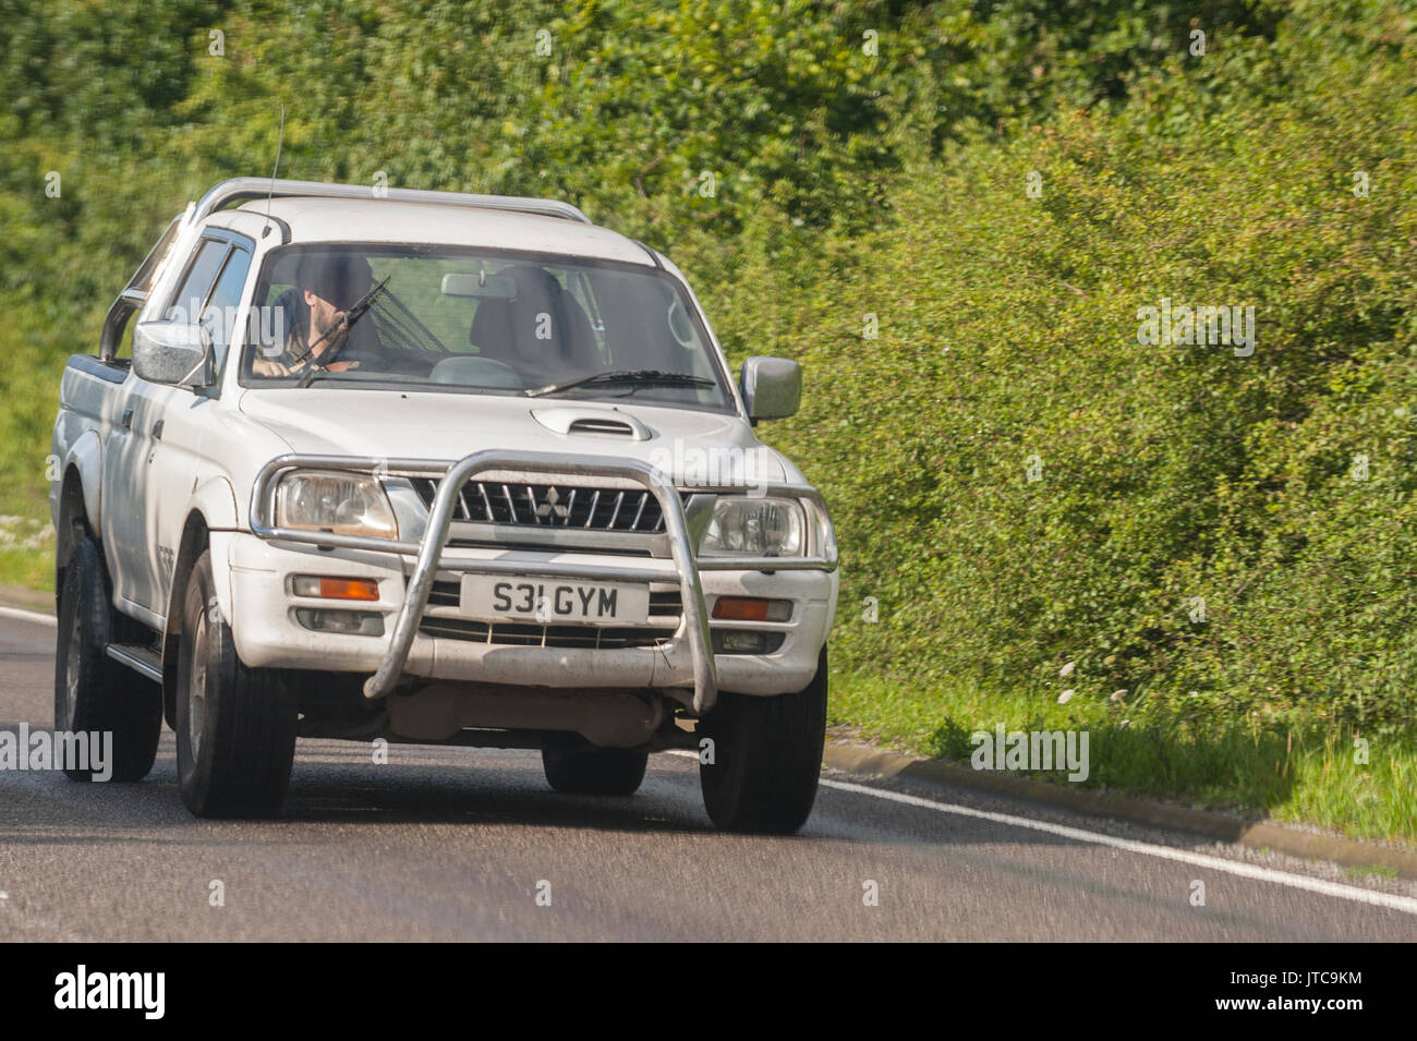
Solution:
<svg viewBox="0 0 1417 1041"><path fill-rule="evenodd" d="M717 409L733 399L687 293L635 265L285 246L266 259L254 303L245 385L414 385Z"/></svg>

